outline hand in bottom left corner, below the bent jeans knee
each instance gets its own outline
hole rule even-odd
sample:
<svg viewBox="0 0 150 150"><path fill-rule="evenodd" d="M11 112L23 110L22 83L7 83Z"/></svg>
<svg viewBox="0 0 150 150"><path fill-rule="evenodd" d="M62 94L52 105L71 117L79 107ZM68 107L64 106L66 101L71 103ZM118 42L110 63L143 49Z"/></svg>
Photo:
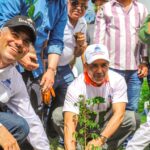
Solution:
<svg viewBox="0 0 150 150"><path fill-rule="evenodd" d="M3 150L20 150L16 139L4 126L0 126L0 145Z"/></svg>

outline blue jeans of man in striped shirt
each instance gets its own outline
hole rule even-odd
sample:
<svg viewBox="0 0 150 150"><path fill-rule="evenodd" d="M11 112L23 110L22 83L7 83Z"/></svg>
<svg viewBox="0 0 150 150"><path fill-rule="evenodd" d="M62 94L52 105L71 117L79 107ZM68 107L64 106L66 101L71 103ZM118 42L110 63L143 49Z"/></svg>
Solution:
<svg viewBox="0 0 150 150"><path fill-rule="evenodd" d="M143 79L138 77L137 70L112 69L125 78L127 83L128 104L127 110L137 111Z"/></svg>

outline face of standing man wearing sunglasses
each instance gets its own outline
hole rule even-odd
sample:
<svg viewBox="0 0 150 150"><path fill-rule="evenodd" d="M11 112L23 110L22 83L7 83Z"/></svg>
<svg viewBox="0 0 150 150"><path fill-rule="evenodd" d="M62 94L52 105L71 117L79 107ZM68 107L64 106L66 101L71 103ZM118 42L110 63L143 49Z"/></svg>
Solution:
<svg viewBox="0 0 150 150"><path fill-rule="evenodd" d="M88 6L88 0L68 0L68 15L71 20L78 21L84 16Z"/></svg>

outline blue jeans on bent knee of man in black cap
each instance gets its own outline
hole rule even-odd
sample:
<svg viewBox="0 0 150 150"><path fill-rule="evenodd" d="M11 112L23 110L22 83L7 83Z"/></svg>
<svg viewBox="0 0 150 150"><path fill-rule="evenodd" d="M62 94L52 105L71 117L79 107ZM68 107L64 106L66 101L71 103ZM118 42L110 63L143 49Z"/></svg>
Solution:
<svg viewBox="0 0 150 150"><path fill-rule="evenodd" d="M0 112L0 123L8 129L19 144L23 143L29 133L27 122L18 115Z"/></svg>

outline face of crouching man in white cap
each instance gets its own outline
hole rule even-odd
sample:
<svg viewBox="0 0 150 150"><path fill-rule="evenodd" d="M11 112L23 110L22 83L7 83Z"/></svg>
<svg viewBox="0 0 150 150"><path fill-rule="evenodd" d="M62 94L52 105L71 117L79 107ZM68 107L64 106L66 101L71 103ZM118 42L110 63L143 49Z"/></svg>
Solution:
<svg viewBox="0 0 150 150"><path fill-rule="evenodd" d="M89 77L97 84L101 84L106 79L108 68L108 61L102 59L95 60L91 64L85 64Z"/></svg>

